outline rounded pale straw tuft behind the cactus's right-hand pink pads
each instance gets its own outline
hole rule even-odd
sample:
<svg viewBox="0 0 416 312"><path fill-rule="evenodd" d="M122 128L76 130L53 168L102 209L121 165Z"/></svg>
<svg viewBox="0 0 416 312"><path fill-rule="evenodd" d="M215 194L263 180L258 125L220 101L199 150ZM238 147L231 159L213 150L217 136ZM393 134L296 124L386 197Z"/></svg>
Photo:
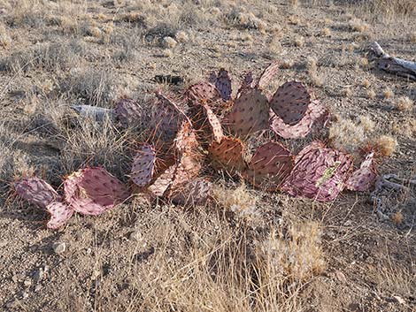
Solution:
<svg viewBox="0 0 416 312"><path fill-rule="evenodd" d="M364 126L354 123L351 119L338 118L329 127L329 141L335 148L354 153L366 140Z"/></svg>

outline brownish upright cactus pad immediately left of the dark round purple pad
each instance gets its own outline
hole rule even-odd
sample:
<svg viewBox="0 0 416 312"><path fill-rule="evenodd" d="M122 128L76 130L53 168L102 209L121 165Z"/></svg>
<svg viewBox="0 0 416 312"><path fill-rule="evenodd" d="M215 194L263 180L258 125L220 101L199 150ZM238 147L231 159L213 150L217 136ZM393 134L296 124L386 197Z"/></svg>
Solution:
<svg viewBox="0 0 416 312"><path fill-rule="evenodd" d="M235 100L226 118L230 132L239 137L268 127L269 105L266 95L257 88L250 89Z"/></svg>

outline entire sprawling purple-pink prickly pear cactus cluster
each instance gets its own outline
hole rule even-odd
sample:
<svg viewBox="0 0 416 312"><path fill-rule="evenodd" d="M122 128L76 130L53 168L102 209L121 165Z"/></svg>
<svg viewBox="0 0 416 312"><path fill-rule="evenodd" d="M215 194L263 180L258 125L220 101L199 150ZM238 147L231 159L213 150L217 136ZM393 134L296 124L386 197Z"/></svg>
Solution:
<svg viewBox="0 0 416 312"><path fill-rule="evenodd" d="M353 171L351 155L327 148L321 141L313 141L297 155L284 145L284 140L304 138L317 124L325 126L329 114L298 81L288 81L267 95L266 86L278 70L273 63L258 80L246 73L235 97L229 73L225 69L212 72L209 82L187 88L181 101L158 92L150 116L134 100L120 99L112 110L118 126L140 126L148 118L149 139L136 148L127 173L130 191L104 168L96 167L69 175L63 196L35 177L17 180L16 192L47 209L48 227L58 228L73 212L99 215L132 192L178 204L206 202L212 192L206 178L213 172L207 170L210 167L254 187L320 202L334 200L345 187L368 189L376 178L374 152ZM253 148L252 141L259 144Z"/></svg>

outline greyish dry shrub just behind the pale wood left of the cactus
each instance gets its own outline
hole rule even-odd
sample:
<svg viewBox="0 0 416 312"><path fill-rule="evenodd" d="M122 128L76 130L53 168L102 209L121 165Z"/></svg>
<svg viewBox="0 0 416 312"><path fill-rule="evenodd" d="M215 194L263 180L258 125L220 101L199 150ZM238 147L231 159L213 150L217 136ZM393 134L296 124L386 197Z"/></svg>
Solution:
<svg viewBox="0 0 416 312"><path fill-rule="evenodd" d="M61 81L60 88L75 98L83 98L89 105L108 107L116 96L115 81L111 71L75 71L69 78Z"/></svg>

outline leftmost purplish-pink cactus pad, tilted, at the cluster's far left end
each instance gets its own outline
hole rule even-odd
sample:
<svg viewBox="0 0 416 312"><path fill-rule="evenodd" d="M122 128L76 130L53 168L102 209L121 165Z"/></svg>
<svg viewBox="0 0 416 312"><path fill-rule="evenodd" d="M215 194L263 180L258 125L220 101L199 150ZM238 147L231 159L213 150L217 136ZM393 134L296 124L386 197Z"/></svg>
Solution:
<svg viewBox="0 0 416 312"><path fill-rule="evenodd" d="M59 202L61 199L48 182L37 177L18 179L14 182L14 189L21 198L44 209L50 202Z"/></svg>

